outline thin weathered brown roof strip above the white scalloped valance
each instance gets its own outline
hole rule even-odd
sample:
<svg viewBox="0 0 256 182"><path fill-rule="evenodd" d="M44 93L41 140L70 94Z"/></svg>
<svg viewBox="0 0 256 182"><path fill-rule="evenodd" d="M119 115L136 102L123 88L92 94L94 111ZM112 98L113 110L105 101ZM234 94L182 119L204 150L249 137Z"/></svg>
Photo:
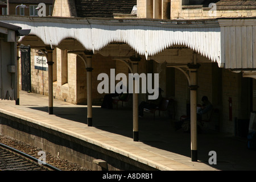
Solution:
<svg viewBox="0 0 256 182"><path fill-rule="evenodd" d="M111 25L141 25L155 27L220 27L217 19L149 19L149 18L77 18L77 17L59 17L59 16L18 16L3 15L2 21L22 21L22 22L53 22L69 24L111 24Z"/></svg>

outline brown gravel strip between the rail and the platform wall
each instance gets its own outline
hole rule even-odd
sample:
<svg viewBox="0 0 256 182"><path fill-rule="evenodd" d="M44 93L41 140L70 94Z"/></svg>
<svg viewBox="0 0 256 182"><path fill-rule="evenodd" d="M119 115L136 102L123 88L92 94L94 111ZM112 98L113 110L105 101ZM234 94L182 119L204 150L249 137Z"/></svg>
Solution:
<svg viewBox="0 0 256 182"><path fill-rule="evenodd" d="M43 151L38 147L31 146L30 144L20 142L16 139L3 137L2 135L0 135L0 143L15 148L16 150L22 151L25 154L31 155L36 159L40 158L38 152ZM77 163L72 163L68 160L57 158L51 155L49 152L46 152L46 163L56 168L59 168L62 171L91 171L90 169L84 168Z"/></svg>

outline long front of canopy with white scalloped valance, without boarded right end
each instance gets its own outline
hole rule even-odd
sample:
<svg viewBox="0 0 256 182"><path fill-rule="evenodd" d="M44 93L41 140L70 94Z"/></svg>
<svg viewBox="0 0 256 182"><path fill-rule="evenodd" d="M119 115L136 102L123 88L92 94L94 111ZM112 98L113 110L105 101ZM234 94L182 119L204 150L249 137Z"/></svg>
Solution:
<svg viewBox="0 0 256 182"><path fill-rule="evenodd" d="M6 16L5 16L6 17ZM98 51L110 43L129 44L140 55L154 56L173 45L184 45L221 62L220 26L211 20L153 20L108 18L6 17L7 22L31 29L46 45L73 38L85 49ZM19 41L22 41L23 37Z"/></svg>

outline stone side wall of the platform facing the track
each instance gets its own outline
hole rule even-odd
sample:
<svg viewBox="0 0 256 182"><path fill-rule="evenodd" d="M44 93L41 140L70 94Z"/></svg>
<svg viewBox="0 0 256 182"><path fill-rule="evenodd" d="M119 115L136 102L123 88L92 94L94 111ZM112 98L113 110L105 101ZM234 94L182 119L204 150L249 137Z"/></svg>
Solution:
<svg viewBox="0 0 256 182"><path fill-rule="evenodd" d="M109 171L157 170L85 140L3 113L0 113L0 135L31 144L94 171L102 170L94 163L96 159L104 160Z"/></svg>

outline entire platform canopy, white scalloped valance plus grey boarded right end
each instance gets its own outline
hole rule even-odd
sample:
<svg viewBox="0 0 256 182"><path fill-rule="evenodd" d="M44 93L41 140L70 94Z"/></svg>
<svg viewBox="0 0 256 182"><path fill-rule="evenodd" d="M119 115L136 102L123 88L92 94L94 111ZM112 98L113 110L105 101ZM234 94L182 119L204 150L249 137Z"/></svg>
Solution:
<svg viewBox="0 0 256 182"><path fill-rule="evenodd" d="M229 61L226 68L244 68L242 61L245 56L251 63L246 64L246 68L256 68L254 18L158 20L1 16L0 20L31 29L30 35L38 36L49 46L58 46L62 40L71 38L94 52L110 43L121 42L147 59L166 48L182 45L217 62L219 67L224 67L226 60ZM234 28L241 31L234 34ZM243 35L243 29L249 34ZM250 43L246 52L242 52L241 36L246 36L246 43ZM241 59L233 59L237 53Z"/></svg>

